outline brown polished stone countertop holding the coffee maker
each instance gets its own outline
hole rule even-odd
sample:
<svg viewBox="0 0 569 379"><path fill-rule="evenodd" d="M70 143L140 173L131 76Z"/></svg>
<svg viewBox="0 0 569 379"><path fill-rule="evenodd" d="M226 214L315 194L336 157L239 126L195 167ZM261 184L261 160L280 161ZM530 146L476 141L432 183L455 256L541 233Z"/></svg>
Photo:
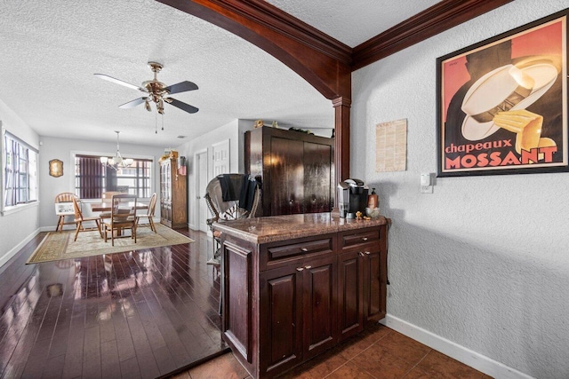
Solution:
<svg viewBox="0 0 569 379"><path fill-rule="evenodd" d="M389 219L386 217L356 220L341 218L333 213L307 213L222 221L214 223L213 229L245 241L267 243L387 225L388 223Z"/></svg>

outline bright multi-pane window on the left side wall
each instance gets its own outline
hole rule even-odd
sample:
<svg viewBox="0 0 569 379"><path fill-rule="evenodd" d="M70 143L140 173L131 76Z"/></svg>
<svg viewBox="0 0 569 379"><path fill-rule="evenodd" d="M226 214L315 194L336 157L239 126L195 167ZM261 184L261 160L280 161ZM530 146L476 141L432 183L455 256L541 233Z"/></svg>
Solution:
<svg viewBox="0 0 569 379"><path fill-rule="evenodd" d="M37 150L3 133L3 209L37 201Z"/></svg>

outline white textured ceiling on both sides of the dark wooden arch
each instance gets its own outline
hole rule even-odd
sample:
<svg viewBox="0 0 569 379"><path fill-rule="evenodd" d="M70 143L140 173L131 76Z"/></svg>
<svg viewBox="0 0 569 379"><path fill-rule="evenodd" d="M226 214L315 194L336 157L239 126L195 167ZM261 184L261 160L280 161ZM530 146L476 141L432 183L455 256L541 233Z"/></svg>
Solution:
<svg viewBox="0 0 569 379"><path fill-rule="evenodd" d="M435 2L270 3L353 46ZM113 130L120 130L123 143L179 146L188 140L180 135L195 138L236 119L333 127L330 100L288 67L240 37L152 0L4 1L0 45L0 99L40 136L115 141ZM149 60L164 64L158 80L166 85L199 86L172 96L198 113L166 105L160 130L163 120L154 110L118 108L140 92L93 75L140 85L152 78Z"/></svg>

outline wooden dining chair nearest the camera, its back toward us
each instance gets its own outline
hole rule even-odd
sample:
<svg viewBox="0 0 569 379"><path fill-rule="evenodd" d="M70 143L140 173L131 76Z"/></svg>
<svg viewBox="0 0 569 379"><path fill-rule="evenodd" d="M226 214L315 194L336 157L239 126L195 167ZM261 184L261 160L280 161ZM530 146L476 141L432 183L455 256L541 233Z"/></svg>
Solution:
<svg viewBox="0 0 569 379"><path fill-rule="evenodd" d="M136 195L121 193L111 198L111 216L102 219L103 238L108 241L110 233L111 245L115 246L116 238L130 237L136 243ZM124 235L125 230L131 230L131 235Z"/></svg>

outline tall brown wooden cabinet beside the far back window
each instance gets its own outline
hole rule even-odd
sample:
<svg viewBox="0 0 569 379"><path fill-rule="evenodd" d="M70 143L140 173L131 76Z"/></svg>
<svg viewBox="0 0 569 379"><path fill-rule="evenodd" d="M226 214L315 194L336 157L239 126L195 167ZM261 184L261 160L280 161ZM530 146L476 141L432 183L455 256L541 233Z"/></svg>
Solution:
<svg viewBox="0 0 569 379"><path fill-rule="evenodd" d="M186 176L178 173L175 159L160 162L160 223L171 228L188 225Z"/></svg>

